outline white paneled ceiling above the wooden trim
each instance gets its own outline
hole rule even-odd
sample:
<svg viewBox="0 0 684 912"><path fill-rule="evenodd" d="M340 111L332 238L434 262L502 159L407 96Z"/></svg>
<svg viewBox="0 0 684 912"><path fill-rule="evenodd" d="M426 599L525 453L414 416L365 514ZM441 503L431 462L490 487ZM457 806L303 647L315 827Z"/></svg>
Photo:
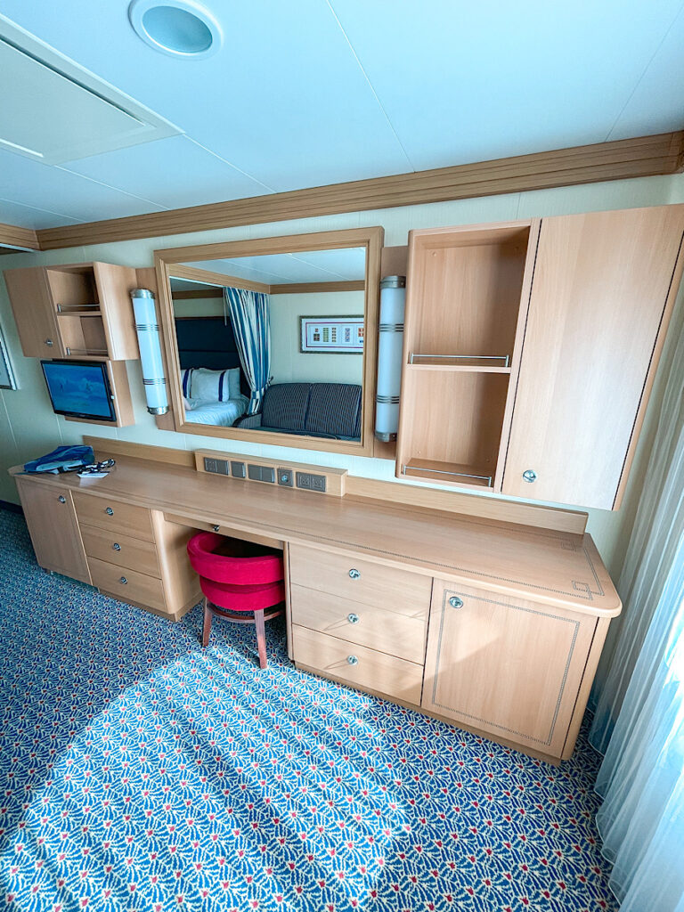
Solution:
<svg viewBox="0 0 684 912"><path fill-rule="evenodd" d="M97 221L684 127L684 0L203 2L225 42L193 61L143 44L128 0L3 0L9 20L183 135L59 165L0 150L0 222Z"/></svg>

